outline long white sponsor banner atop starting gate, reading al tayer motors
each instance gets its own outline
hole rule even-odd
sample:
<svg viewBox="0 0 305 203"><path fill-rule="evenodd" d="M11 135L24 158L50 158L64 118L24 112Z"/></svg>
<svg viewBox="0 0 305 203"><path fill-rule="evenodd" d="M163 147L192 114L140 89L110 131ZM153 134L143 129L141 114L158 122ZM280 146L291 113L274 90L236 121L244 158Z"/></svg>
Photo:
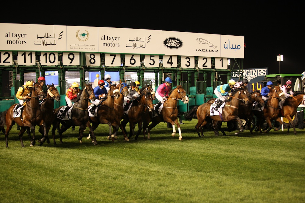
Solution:
<svg viewBox="0 0 305 203"><path fill-rule="evenodd" d="M2 51L244 58L244 37L111 27L0 23Z"/></svg>

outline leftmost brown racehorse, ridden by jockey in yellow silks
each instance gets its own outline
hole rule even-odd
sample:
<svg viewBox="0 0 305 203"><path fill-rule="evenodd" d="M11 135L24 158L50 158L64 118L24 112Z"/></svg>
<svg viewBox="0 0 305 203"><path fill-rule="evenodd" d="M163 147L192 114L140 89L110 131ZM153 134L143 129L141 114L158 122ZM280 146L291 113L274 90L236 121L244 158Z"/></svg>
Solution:
<svg viewBox="0 0 305 203"><path fill-rule="evenodd" d="M7 138L9 136L9 131L12 129L15 123L17 123L17 125L21 127L18 133L21 146L24 147L22 141L22 135L27 130L28 127L30 127L32 133L32 137L30 137L31 139L30 146L35 145L35 126L42 124L42 115L41 115L41 110L39 108L39 100L42 100L44 97L45 97L45 93L43 93L40 84L35 83L34 88L30 93L30 97L27 97L27 99L24 101L26 102L26 104L23 107L24 109L22 113L22 120L20 117L14 118L14 108L16 107L17 104L13 104L11 107L9 107L8 110L2 112L0 125L1 126L6 125L6 132L5 132L6 147L9 147ZM46 133L44 136L46 136Z"/></svg>

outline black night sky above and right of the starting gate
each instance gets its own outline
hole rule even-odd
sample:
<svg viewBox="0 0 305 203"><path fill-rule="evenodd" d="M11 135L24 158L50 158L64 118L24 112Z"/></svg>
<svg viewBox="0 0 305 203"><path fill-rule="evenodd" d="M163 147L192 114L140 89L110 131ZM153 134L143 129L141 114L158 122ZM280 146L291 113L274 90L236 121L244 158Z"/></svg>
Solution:
<svg viewBox="0 0 305 203"><path fill-rule="evenodd" d="M109 4L109 3L108 3ZM283 55L281 73L302 73L304 58L304 2L265 5L221 3L118 3L108 5L45 5L40 9L4 11L1 23L80 25L169 30L244 36L243 68L279 72L277 55ZM43 9L42 9L43 8Z"/></svg>

